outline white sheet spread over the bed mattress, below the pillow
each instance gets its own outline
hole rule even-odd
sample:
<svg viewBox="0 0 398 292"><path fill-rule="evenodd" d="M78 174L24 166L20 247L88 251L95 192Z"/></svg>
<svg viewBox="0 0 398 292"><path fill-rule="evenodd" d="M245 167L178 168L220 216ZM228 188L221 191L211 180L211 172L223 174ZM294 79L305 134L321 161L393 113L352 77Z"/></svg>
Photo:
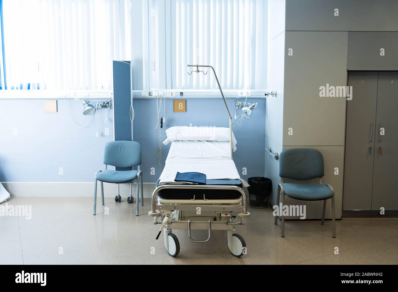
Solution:
<svg viewBox="0 0 398 292"><path fill-rule="evenodd" d="M173 141L166 165L160 175L160 184L175 182L177 172L201 172L208 180L241 180L233 160L229 159L229 141Z"/></svg>

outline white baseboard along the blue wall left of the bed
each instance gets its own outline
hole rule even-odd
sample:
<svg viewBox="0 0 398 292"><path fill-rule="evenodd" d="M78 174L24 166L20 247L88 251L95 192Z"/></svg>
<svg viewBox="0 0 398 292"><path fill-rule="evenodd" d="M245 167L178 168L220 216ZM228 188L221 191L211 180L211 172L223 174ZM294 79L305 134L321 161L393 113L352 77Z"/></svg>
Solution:
<svg viewBox="0 0 398 292"><path fill-rule="evenodd" d="M3 182L4 188L11 196L16 197L92 197L94 182ZM144 197L152 197L155 183L144 183ZM136 195L137 184L133 184L133 196ZM117 184L103 184L105 197L117 195ZM130 195L130 184L120 184L120 195ZM100 183L97 196L101 197Z"/></svg>

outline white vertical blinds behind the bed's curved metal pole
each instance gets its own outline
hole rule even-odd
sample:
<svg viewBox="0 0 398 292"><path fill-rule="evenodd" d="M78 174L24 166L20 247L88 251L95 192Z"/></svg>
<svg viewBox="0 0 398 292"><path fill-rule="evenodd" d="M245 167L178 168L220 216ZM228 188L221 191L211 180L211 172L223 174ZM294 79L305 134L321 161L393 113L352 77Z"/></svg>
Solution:
<svg viewBox="0 0 398 292"><path fill-rule="evenodd" d="M217 89L211 72L188 75L187 64L213 66L223 89L267 88L267 1L143 5L144 89Z"/></svg>

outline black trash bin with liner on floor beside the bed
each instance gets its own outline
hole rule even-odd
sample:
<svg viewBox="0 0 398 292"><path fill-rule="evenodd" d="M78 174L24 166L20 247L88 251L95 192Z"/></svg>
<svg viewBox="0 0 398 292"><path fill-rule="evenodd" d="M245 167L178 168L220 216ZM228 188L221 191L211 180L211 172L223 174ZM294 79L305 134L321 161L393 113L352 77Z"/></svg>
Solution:
<svg viewBox="0 0 398 292"><path fill-rule="evenodd" d="M268 207L269 194L272 190L272 182L269 178L254 176L248 179L250 187L249 205L252 208L263 209Z"/></svg>

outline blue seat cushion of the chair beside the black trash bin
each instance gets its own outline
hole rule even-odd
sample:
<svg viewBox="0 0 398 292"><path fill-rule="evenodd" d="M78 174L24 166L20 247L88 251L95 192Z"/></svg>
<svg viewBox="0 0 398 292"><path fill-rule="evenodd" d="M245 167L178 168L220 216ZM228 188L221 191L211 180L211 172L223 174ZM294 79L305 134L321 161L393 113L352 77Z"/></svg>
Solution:
<svg viewBox="0 0 398 292"><path fill-rule="evenodd" d="M333 197L333 191L324 184L283 184L285 194L297 200L319 201Z"/></svg>

